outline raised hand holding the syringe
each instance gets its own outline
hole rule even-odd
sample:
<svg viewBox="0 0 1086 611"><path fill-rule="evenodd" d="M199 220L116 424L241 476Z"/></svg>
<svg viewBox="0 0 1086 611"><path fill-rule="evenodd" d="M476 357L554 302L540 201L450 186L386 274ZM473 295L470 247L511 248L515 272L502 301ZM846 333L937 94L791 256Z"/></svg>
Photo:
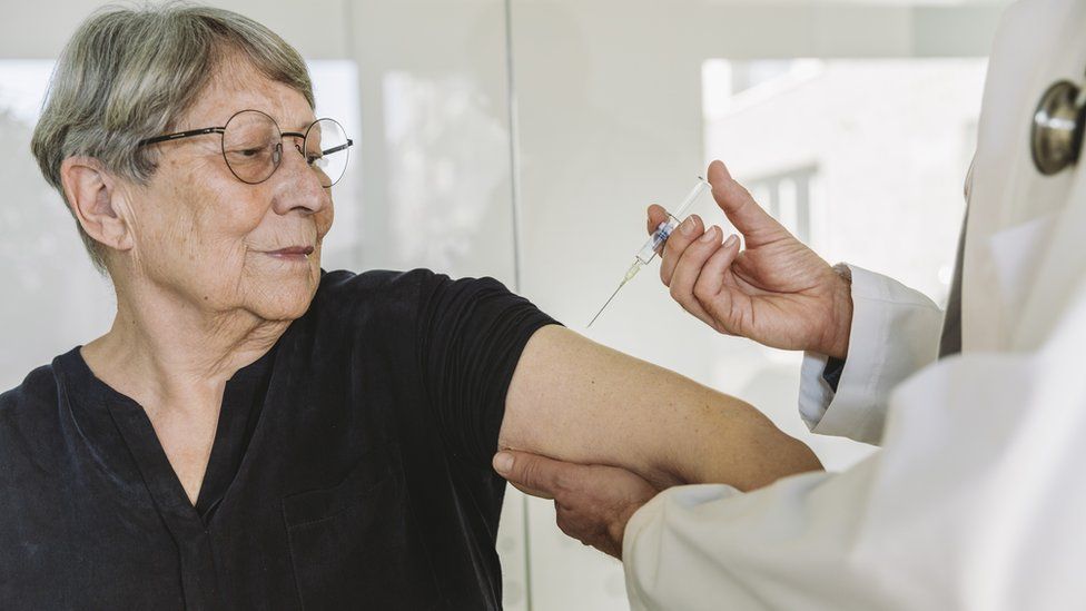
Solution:
<svg viewBox="0 0 1086 611"><path fill-rule="evenodd" d="M709 166L713 199L742 233L722 242L691 215L661 253L660 278L671 296L719 333L783 349L845 358L852 321L848 280L769 216L724 164ZM649 233L667 219L649 208Z"/></svg>

